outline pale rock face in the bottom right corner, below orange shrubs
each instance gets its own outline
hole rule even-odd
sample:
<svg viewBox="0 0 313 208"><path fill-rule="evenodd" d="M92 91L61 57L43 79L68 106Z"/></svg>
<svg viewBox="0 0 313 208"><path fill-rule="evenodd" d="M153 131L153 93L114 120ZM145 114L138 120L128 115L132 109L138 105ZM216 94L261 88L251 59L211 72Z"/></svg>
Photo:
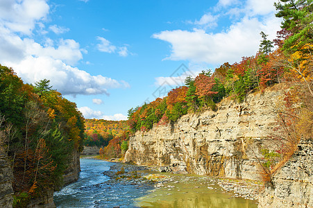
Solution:
<svg viewBox="0 0 313 208"><path fill-rule="evenodd" d="M302 141L298 151L273 176L274 188L266 187L259 207L313 207L313 141Z"/></svg>

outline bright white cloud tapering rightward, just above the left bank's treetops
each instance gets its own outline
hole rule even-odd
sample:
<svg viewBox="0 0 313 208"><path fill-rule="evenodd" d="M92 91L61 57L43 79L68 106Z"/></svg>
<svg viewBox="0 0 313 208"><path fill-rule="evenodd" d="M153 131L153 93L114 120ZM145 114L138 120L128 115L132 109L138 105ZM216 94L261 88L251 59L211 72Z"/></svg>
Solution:
<svg viewBox="0 0 313 208"><path fill-rule="evenodd" d="M51 80L53 89L58 89L62 94L109 95L107 89L128 87L124 82L101 75L92 76L86 71L49 57L28 56L18 64L12 62L5 64L13 67L26 83L35 83L44 78Z"/></svg>

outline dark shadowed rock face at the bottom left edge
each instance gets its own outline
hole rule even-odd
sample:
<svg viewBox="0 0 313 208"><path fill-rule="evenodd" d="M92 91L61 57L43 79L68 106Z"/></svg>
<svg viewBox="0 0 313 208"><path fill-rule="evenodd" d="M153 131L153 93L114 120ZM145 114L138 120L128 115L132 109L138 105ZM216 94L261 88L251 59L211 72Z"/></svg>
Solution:
<svg viewBox="0 0 313 208"><path fill-rule="evenodd" d="M12 179L13 172L8 157L0 147L0 207L12 207Z"/></svg>

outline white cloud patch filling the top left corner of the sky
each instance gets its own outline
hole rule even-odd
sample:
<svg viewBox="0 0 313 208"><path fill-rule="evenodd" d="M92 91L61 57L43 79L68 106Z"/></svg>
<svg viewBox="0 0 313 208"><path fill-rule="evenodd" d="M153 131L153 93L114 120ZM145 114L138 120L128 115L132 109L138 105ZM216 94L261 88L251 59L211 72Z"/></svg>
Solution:
<svg viewBox="0 0 313 208"><path fill-rule="evenodd" d="M45 0L0 1L0 25L13 32L31 35L35 24L49 14Z"/></svg>

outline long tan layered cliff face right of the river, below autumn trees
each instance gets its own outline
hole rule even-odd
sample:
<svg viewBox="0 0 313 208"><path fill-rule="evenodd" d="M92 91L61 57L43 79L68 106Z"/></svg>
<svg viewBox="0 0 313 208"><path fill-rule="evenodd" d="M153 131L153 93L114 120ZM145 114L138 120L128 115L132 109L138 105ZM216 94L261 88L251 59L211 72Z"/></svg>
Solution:
<svg viewBox="0 0 313 208"><path fill-rule="evenodd" d="M239 104L224 99L217 112L187 114L172 126L137 132L125 160L169 166L174 173L257 180L255 155L261 157L261 148L271 148L267 136L276 125L273 105L281 92L267 89Z"/></svg>

